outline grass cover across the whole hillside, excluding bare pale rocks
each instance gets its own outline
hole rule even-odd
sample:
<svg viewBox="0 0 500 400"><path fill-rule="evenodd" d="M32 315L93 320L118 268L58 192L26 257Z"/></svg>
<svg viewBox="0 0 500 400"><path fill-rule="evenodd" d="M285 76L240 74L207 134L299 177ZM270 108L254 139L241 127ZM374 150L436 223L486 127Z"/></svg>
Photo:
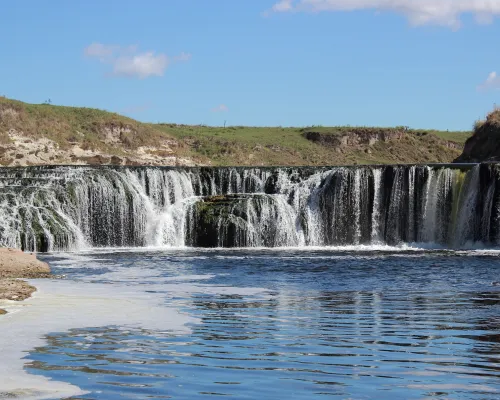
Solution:
<svg viewBox="0 0 500 400"><path fill-rule="evenodd" d="M105 143L103 130L126 127L118 144ZM110 155L133 152L139 146L168 142L178 157L208 165L339 165L450 162L471 132L408 130L405 127L208 127L147 124L92 108L27 104L0 98L0 143L10 129L34 138L45 137L68 148L74 143ZM352 132L407 132L402 140L372 146L333 148L306 139L305 133L345 135Z"/></svg>

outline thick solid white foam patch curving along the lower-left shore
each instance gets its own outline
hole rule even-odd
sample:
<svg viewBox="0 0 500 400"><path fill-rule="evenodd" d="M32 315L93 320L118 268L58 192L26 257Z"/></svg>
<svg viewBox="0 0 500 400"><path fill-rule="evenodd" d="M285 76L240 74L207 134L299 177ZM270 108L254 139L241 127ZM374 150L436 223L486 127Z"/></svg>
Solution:
<svg viewBox="0 0 500 400"><path fill-rule="evenodd" d="M163 305L163 297L134 287L33 280L38 291L22 303L4 301L0 318L0 398L49 399L81 395L76 386L24 371L26 352L44 335L75 328L121 326L187 334L199 322Z"/></svg>

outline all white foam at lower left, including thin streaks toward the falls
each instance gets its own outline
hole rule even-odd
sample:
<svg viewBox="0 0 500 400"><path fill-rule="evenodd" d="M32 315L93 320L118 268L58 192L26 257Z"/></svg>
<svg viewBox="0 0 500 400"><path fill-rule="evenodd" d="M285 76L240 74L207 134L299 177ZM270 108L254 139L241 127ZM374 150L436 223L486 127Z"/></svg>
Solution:
<svg viewBox="0 0 500 400"><path fill-rule="evenodd" d="M68 268L98 268L100 259L80 254L66 255L56 265ZM51 332L67 332L76 328L117 326L140 328L160 334L189 334L189 325L199 319L179 312L165 304L166 297L181 293L221 293L253 295L262 289L238 289L196 284L213 275L184 275L160 278L159 271L123 268L107 264L114 270L102 274L106 283L85 279L30 280L37 292L24 302L0 301L8 311L0 317L0 397L49 399L82 395L77 386L32 375L23 369L26 353L44 344ZM148 281L151 281L148 283ZM161 293L152 293L159 290Z"/></svg>

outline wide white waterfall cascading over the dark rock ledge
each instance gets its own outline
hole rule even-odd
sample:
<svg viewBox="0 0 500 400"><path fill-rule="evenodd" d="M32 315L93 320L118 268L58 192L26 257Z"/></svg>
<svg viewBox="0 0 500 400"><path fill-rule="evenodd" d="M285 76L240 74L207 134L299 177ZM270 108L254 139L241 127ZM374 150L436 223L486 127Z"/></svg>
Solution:
<svg viewBox="0 0 500 400"><path fill-rule="evenodd" d="M500 167L0 168L0 245L285 247L500 241Z"/></svg>

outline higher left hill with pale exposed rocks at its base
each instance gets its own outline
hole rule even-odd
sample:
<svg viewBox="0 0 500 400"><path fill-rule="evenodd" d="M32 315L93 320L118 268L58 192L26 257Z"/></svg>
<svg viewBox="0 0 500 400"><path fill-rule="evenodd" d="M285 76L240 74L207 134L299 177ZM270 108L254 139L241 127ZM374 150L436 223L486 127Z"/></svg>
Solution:
<svg viewBox="0 0 500 400"><path fill-rule="evenodd" d="M154 127L92 108L0 98L0 163L193 165Z"/></svg>

